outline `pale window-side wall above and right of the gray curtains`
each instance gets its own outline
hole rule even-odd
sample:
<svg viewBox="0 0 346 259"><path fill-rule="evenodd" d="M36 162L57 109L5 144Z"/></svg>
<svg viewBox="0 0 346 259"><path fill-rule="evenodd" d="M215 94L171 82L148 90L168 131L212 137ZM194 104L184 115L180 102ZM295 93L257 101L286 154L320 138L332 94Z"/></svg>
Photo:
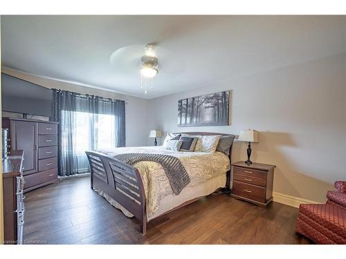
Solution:
<svg viewBox="0 0 346 259"><path fill-rule="evenodd" d="M2 68L2 72L14 77L30 81L40 86L47 88L57 88L62 90L71 90L76 93L83 93L89 95L99 95L102 97L122 99L127 102L125 106L126 113L126 145L127 146L145 146L147 144L147 137L149 135L148 128L148 103L147 99L131 97L129 95L122 95L121 93L109 92L106 90L99 90L80 86L78 84L71 84L64 81L57 81L44 77L37 77L28 73L23 73L18 70Z"/></svg>

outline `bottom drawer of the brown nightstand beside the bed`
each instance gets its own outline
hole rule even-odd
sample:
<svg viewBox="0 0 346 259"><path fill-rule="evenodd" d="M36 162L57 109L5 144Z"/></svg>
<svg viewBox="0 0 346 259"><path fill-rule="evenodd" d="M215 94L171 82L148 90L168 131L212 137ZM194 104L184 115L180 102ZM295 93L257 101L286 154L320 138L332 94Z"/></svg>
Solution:
<svg viewBox="0 0 346 259"><path fill-rule="evenodd" d="M266 189L261 186L233 181L232 193L258 202L266 202Z"/></svg>

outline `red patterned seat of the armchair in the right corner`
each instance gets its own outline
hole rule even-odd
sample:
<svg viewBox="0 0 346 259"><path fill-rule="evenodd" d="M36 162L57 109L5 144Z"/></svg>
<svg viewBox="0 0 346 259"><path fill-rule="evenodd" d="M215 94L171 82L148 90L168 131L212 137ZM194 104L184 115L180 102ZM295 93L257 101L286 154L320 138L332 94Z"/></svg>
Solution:
<svg viewBox="0 0 346 259"><path fill-rule="evenodd" d="M300 219L304 220L305 215L346 240L346 209L333 204L301 204L299 213ZM306 223L309 224L309 222ZM318 231L323 233L322 228Z"/></svg>

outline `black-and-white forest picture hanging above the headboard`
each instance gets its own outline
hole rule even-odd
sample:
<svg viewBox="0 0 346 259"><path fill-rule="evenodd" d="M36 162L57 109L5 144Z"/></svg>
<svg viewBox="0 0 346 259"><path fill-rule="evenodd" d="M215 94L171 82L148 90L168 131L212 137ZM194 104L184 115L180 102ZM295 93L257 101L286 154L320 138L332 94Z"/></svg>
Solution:
<svg viewBox="0 0 346 259"><path fill-rule="evenodd" d="M228 125L230 91L178 101L178 126Z"/></svg>

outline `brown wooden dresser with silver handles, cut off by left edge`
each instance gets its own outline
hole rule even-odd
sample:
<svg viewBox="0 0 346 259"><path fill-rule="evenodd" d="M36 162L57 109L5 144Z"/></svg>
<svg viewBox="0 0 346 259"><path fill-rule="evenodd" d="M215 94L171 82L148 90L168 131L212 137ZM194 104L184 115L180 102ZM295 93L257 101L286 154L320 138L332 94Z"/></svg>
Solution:
<svg viewBox="0 0 346 259"><path fill-rule="evenodd" d="M23 151L11 151L2 160L4 244L21 244L24 228Z"/></svg>

